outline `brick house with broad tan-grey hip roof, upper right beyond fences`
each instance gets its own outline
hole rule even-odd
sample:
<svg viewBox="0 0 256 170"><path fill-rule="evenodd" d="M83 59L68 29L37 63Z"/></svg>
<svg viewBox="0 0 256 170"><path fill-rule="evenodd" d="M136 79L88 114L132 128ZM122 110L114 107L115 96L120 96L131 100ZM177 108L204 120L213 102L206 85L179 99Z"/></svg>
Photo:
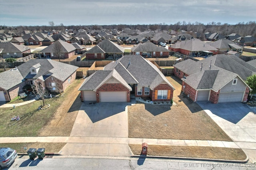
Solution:
<svg viewBox="0 0 256 170"><path fill-rule="evenodd" d="M215 47L202 42L196 38L186 41L176 42L175 44L168 47L169 50L179 52L184 55L202 57L203 54L208 56L218 54L218 49Z"/></svg>

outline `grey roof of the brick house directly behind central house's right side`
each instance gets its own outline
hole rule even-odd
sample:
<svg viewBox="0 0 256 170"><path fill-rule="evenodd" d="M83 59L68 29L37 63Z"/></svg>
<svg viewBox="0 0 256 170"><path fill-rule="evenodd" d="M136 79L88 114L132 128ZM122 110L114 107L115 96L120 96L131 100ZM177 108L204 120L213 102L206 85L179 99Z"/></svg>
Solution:
<svg viewBox="0 0 256 170"><path fill-rule="evenodd" d="M165 47L155 45L152 42L138 43L132 47L132 52L141 52L141 51L169 51Z"/></svg>

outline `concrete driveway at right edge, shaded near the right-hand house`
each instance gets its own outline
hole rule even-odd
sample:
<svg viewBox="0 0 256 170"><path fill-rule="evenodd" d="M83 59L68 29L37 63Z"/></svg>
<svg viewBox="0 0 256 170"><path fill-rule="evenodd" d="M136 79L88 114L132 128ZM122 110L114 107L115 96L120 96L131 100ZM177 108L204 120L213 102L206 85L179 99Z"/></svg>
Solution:
<svg viewBox="0 0 256 170"><path fill-rule="evenodd" d="M256 107L245 103L197 102L202 109L256 162Z"/></svg>

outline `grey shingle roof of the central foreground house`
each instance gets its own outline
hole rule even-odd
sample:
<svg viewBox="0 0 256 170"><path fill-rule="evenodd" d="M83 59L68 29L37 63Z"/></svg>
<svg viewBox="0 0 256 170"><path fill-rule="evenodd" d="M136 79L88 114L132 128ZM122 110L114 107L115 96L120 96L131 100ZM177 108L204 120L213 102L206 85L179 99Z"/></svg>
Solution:
<svg viewBox="0 0 256 170"><path fill-rule="evenodd" d="M96 90L110 77L115 77L130 90L131 87L128 84L149 86L150 89L154 89L160 83L166 83L174 89L153 63L140 55L125 55L106 65L103 71L96 71L90 75L79 90Z"/></svg>

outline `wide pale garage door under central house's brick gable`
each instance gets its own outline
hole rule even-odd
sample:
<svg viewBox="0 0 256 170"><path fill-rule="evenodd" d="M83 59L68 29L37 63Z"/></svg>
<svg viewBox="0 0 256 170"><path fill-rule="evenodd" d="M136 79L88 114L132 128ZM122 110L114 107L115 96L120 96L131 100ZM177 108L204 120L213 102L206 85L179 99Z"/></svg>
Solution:
<svg viewBox="0 0 256 170"><path fill-rule="evenodd" d="M126 91L102 91L100 102L126 102Z"/></svg>

